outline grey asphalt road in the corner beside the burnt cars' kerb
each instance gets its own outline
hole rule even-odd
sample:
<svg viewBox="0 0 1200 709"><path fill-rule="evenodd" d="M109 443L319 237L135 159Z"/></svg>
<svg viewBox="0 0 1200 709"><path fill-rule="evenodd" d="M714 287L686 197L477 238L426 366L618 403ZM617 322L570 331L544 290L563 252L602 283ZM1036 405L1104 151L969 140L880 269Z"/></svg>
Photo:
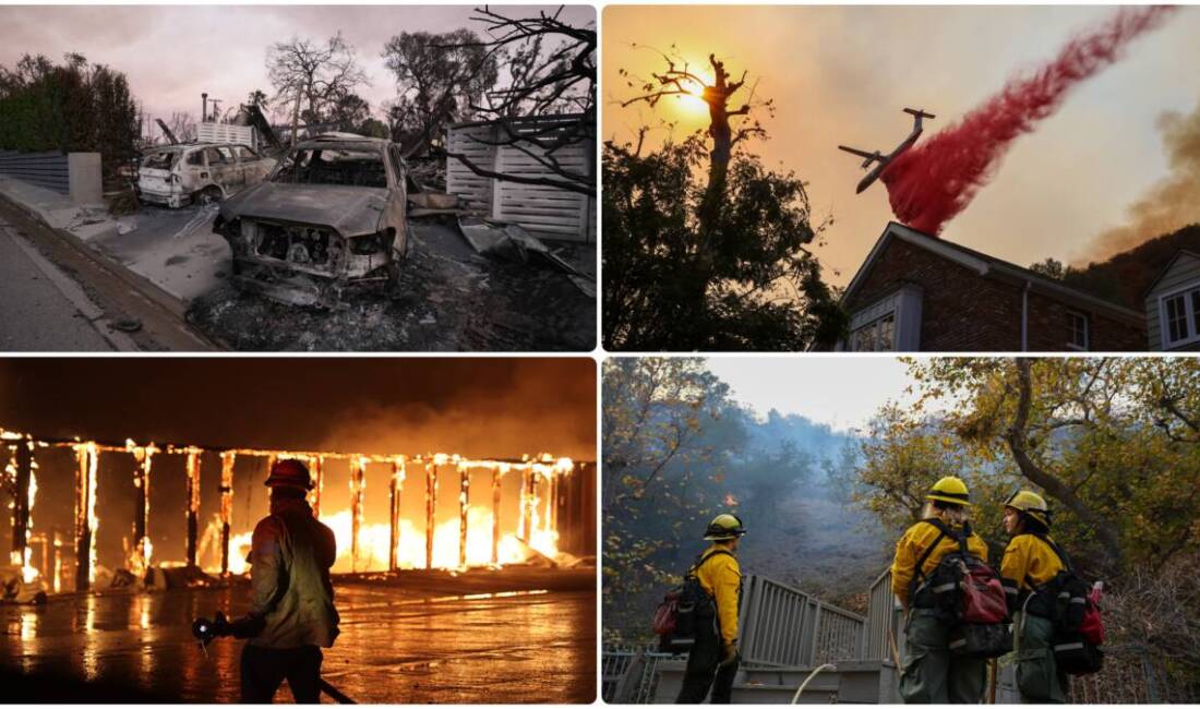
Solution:
<svg viewBox="0 0 1200 709"><path fill-rule="evenodd" d="M94 325L98 308L78 288L71 293L71 286L0 220L0 350L115 350Z"/></svg>

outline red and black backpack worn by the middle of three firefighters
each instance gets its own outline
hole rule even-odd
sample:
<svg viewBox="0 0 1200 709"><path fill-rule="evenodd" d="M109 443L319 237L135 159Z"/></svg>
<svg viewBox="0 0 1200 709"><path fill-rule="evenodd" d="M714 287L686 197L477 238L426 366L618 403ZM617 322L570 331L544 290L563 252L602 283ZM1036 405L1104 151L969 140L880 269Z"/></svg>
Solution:
<svg viewBox="0 0 1200 709"><path fill-rule="evenodd" d="M917 561L913 575L916 590L910 597L918 606L932 607L938 619L950 627L949 649L962 657L1000 657L1013 650L1013 631L1008 626L1008 601L1000 573L986 561L967 551L971 528L955 533L941 519L925 519L937 527L938 535ZM959 549L942 557L928 577L922 571L925 560L942 537L949 536ZM924 582L917 587L919 578Z"/></svg>

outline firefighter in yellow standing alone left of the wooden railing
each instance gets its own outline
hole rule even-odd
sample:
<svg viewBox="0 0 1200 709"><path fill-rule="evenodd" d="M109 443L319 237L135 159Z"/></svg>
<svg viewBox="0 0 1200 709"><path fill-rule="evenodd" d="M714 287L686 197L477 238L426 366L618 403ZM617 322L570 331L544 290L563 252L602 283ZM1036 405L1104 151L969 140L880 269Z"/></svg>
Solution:
<svg viewBox="0 0 1200 709"><path fill-rule="evenodd" d="M688 668L676 704L700 704L713 691L713 704L728 704L733 678L738 673L738 607L742 603L742 567L734 554L745 527L737 515L713 518L704 539L713 542L688 571L713 601L715 612L704 618L697 612L696 644L688 654Z"/></svg>

